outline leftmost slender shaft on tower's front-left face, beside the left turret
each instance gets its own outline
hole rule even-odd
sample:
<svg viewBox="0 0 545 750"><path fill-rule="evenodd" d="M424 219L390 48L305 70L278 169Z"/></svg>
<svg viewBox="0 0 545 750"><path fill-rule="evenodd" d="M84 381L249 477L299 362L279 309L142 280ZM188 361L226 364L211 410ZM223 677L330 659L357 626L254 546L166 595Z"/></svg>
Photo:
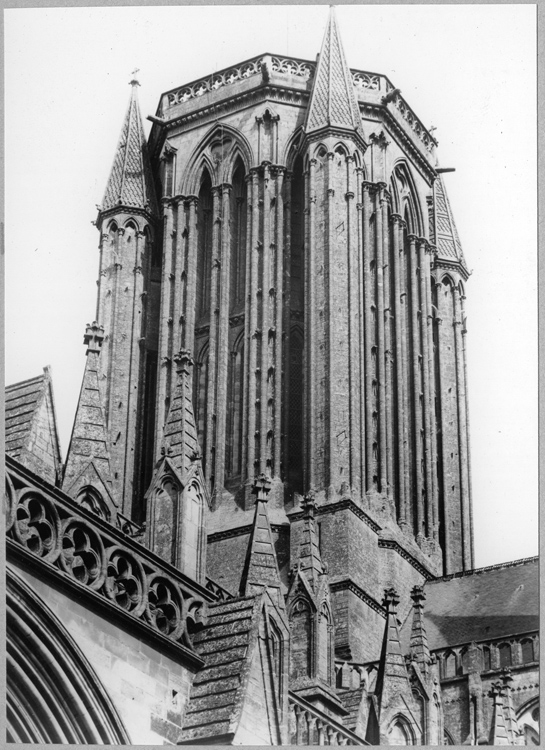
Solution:
<svg viewBox="0 0 545 750"><path fill-rule="evenodd" d="M154 451L156 460L159 458L159 448L161 446L163 428L166 420L167 381L171 366L168 352L168 319L170 317L170 269L172 266L172 231L174 219L170 200L164 199L163 204L166 221L163 222L163 269L161 278L161 313L159 322L159 382L157 384Z"/></svg>

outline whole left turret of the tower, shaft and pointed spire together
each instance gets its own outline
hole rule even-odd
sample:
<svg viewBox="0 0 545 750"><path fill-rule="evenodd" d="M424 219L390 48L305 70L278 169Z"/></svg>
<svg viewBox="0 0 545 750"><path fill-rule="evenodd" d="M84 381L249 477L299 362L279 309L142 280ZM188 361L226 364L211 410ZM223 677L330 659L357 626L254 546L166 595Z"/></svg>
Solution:
<svg viewBox="0 0 545 750"><path fill-rule="evenodd" d="M130 83L129 106L96 222L101 233L96 320L104 329L98 380L113 492L122 512L139 522L142 509L133 508L133 503L135 491L143 494L150 480L145 414L153 408L149 380L157 363L150 326L154 302L147 297L153 266L160 260L152 253L157 202L138 105L139 84L134 78Z"/></svg>

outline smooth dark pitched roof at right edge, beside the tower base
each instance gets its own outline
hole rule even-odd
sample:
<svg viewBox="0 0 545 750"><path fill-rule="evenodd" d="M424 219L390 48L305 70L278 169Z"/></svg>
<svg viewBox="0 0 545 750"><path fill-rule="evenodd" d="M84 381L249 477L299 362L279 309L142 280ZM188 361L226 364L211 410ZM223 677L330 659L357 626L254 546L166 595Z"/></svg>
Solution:
<svg viewBox="0 0 545 750"><path fill-rule="evenodd" d="M480 568L428 581L424 619L430 649L537 630L538 558ZM403 652L409 651L412 612L403 624Z"/></svg>

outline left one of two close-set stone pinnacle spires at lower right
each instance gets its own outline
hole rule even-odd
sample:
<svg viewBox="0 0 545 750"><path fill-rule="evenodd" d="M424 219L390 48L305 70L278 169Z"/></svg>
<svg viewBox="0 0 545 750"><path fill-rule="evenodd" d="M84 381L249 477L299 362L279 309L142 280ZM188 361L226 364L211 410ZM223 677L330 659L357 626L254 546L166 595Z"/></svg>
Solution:
<svg viewBox="0 0 545 750"><path fill-rule="evenodd" d="M399 596L394 588L385 589L382 605L386 608L386 627L382 652L375 685L380 710L387 706L396 695L409 689L409 678L405 659L401 653L397 605ZM410 691L409 691L410 693Z"/></svg>

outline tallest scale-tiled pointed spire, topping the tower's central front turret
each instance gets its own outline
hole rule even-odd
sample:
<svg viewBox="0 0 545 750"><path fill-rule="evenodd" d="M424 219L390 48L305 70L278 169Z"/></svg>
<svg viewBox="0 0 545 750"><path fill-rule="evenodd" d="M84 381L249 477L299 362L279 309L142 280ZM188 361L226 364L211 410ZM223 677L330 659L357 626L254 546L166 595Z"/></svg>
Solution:
<svg viewBox="0 0 545 750"><path fill-rule="evenodd" d="M333 7L329 12L316 65L305 130L311 133L329 126L348 128L361 134L361 117L352 74L344 57Z"/></svg>

